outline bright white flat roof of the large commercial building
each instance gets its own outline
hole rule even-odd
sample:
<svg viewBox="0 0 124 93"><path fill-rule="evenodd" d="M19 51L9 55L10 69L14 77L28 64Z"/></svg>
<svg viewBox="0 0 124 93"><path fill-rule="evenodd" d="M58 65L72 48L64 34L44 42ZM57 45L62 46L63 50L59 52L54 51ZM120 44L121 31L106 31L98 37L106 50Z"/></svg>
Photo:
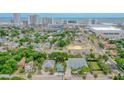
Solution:
<svg viewBox="0 0 124 93"><path fill-rule="evenodd" d="M117 30L121 31L121 29L113 27L113 26L98 26L98 27L91 27L93 30Z"/></svg>

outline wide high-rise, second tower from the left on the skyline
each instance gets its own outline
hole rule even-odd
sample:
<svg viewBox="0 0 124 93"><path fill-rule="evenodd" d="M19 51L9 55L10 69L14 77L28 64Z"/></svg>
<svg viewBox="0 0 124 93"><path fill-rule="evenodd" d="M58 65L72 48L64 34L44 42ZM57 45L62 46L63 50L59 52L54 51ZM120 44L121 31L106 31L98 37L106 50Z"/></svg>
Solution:
<svg viewBox="0 0 124 93"><path fill-rule="evenodd" d="M28 24L30 26L37 26L38 25L38 15L30 15L28 18Z"/></svg>

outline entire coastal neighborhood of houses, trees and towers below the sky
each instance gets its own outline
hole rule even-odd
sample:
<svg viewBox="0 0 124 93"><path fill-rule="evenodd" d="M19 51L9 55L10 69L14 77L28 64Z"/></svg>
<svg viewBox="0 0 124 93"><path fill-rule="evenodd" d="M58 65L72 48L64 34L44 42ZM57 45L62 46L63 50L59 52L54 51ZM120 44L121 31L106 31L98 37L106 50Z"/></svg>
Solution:
<svg viewBox="0 0 124 93"><path fill-rule="evenodd" d="M124 80L124 21L21 15L0 18L0 80Z"/></svg>

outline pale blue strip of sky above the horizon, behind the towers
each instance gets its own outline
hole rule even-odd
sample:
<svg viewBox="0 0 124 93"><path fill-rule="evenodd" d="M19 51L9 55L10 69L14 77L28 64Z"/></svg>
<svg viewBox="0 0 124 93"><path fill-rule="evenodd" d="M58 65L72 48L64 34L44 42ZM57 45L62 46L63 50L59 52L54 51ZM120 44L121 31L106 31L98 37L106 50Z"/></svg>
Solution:
<svg viewBox="0 0 124 93"><path fill-rule="evenodd" d="M27 17L32 14L21 13L21 16ZM12 15L12 13L0 13L0 17L12 17ZM37 13L37 15L53 18L124 18L124 13Z"/></svg>

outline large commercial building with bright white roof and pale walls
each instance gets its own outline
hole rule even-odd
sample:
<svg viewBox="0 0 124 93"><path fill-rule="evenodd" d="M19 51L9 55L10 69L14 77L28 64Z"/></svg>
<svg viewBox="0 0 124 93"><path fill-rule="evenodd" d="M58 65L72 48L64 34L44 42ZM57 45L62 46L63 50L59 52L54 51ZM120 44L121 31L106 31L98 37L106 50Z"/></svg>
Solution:
<svg viewBox="0 0 124 93"><path fill-rule="evenodd" d="M90 26L89 29L102 38L111 40L124 38L124 31L113 26Z"/></svg>

